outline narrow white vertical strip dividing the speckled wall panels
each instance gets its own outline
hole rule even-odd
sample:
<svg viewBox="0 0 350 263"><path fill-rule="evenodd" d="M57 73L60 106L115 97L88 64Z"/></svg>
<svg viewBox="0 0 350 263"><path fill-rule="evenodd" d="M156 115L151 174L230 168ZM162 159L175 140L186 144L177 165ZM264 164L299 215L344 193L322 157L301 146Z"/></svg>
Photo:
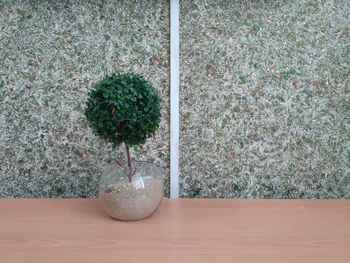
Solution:
<svg viewBox="0 0 350 263"><path fill-rule="evenodd" d="M170 197L179 197L179 0L170 1Z"/></svg>

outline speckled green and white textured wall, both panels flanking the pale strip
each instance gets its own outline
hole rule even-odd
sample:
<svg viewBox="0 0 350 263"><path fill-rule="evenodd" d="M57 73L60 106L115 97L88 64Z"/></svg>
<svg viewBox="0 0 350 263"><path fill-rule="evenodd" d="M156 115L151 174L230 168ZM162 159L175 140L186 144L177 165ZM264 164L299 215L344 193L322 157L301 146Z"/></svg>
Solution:
<svg viewBox="0 0 350 263"><path fill-rule="evenodd" d="M0 2L0 196L95 197L123 149L87 93L115 70L162 97L133 150L169 195L169 1ZM350 2L180 2L180 197L350 198Z"/></svg>

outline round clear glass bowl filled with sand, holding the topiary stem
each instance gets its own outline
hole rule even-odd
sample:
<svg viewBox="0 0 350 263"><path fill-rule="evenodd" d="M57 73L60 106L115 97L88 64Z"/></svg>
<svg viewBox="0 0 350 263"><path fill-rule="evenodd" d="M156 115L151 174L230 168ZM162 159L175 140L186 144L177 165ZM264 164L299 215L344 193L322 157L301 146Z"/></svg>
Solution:
<svg viewBox="0 0 350 263"><path fill-rule="evenodd" d="M99 202L103 210L118 220L140 220L151 216L163 197L163 176L154 163L132 162L132 180L127 164L108 165L101 176Z"/></svg>

